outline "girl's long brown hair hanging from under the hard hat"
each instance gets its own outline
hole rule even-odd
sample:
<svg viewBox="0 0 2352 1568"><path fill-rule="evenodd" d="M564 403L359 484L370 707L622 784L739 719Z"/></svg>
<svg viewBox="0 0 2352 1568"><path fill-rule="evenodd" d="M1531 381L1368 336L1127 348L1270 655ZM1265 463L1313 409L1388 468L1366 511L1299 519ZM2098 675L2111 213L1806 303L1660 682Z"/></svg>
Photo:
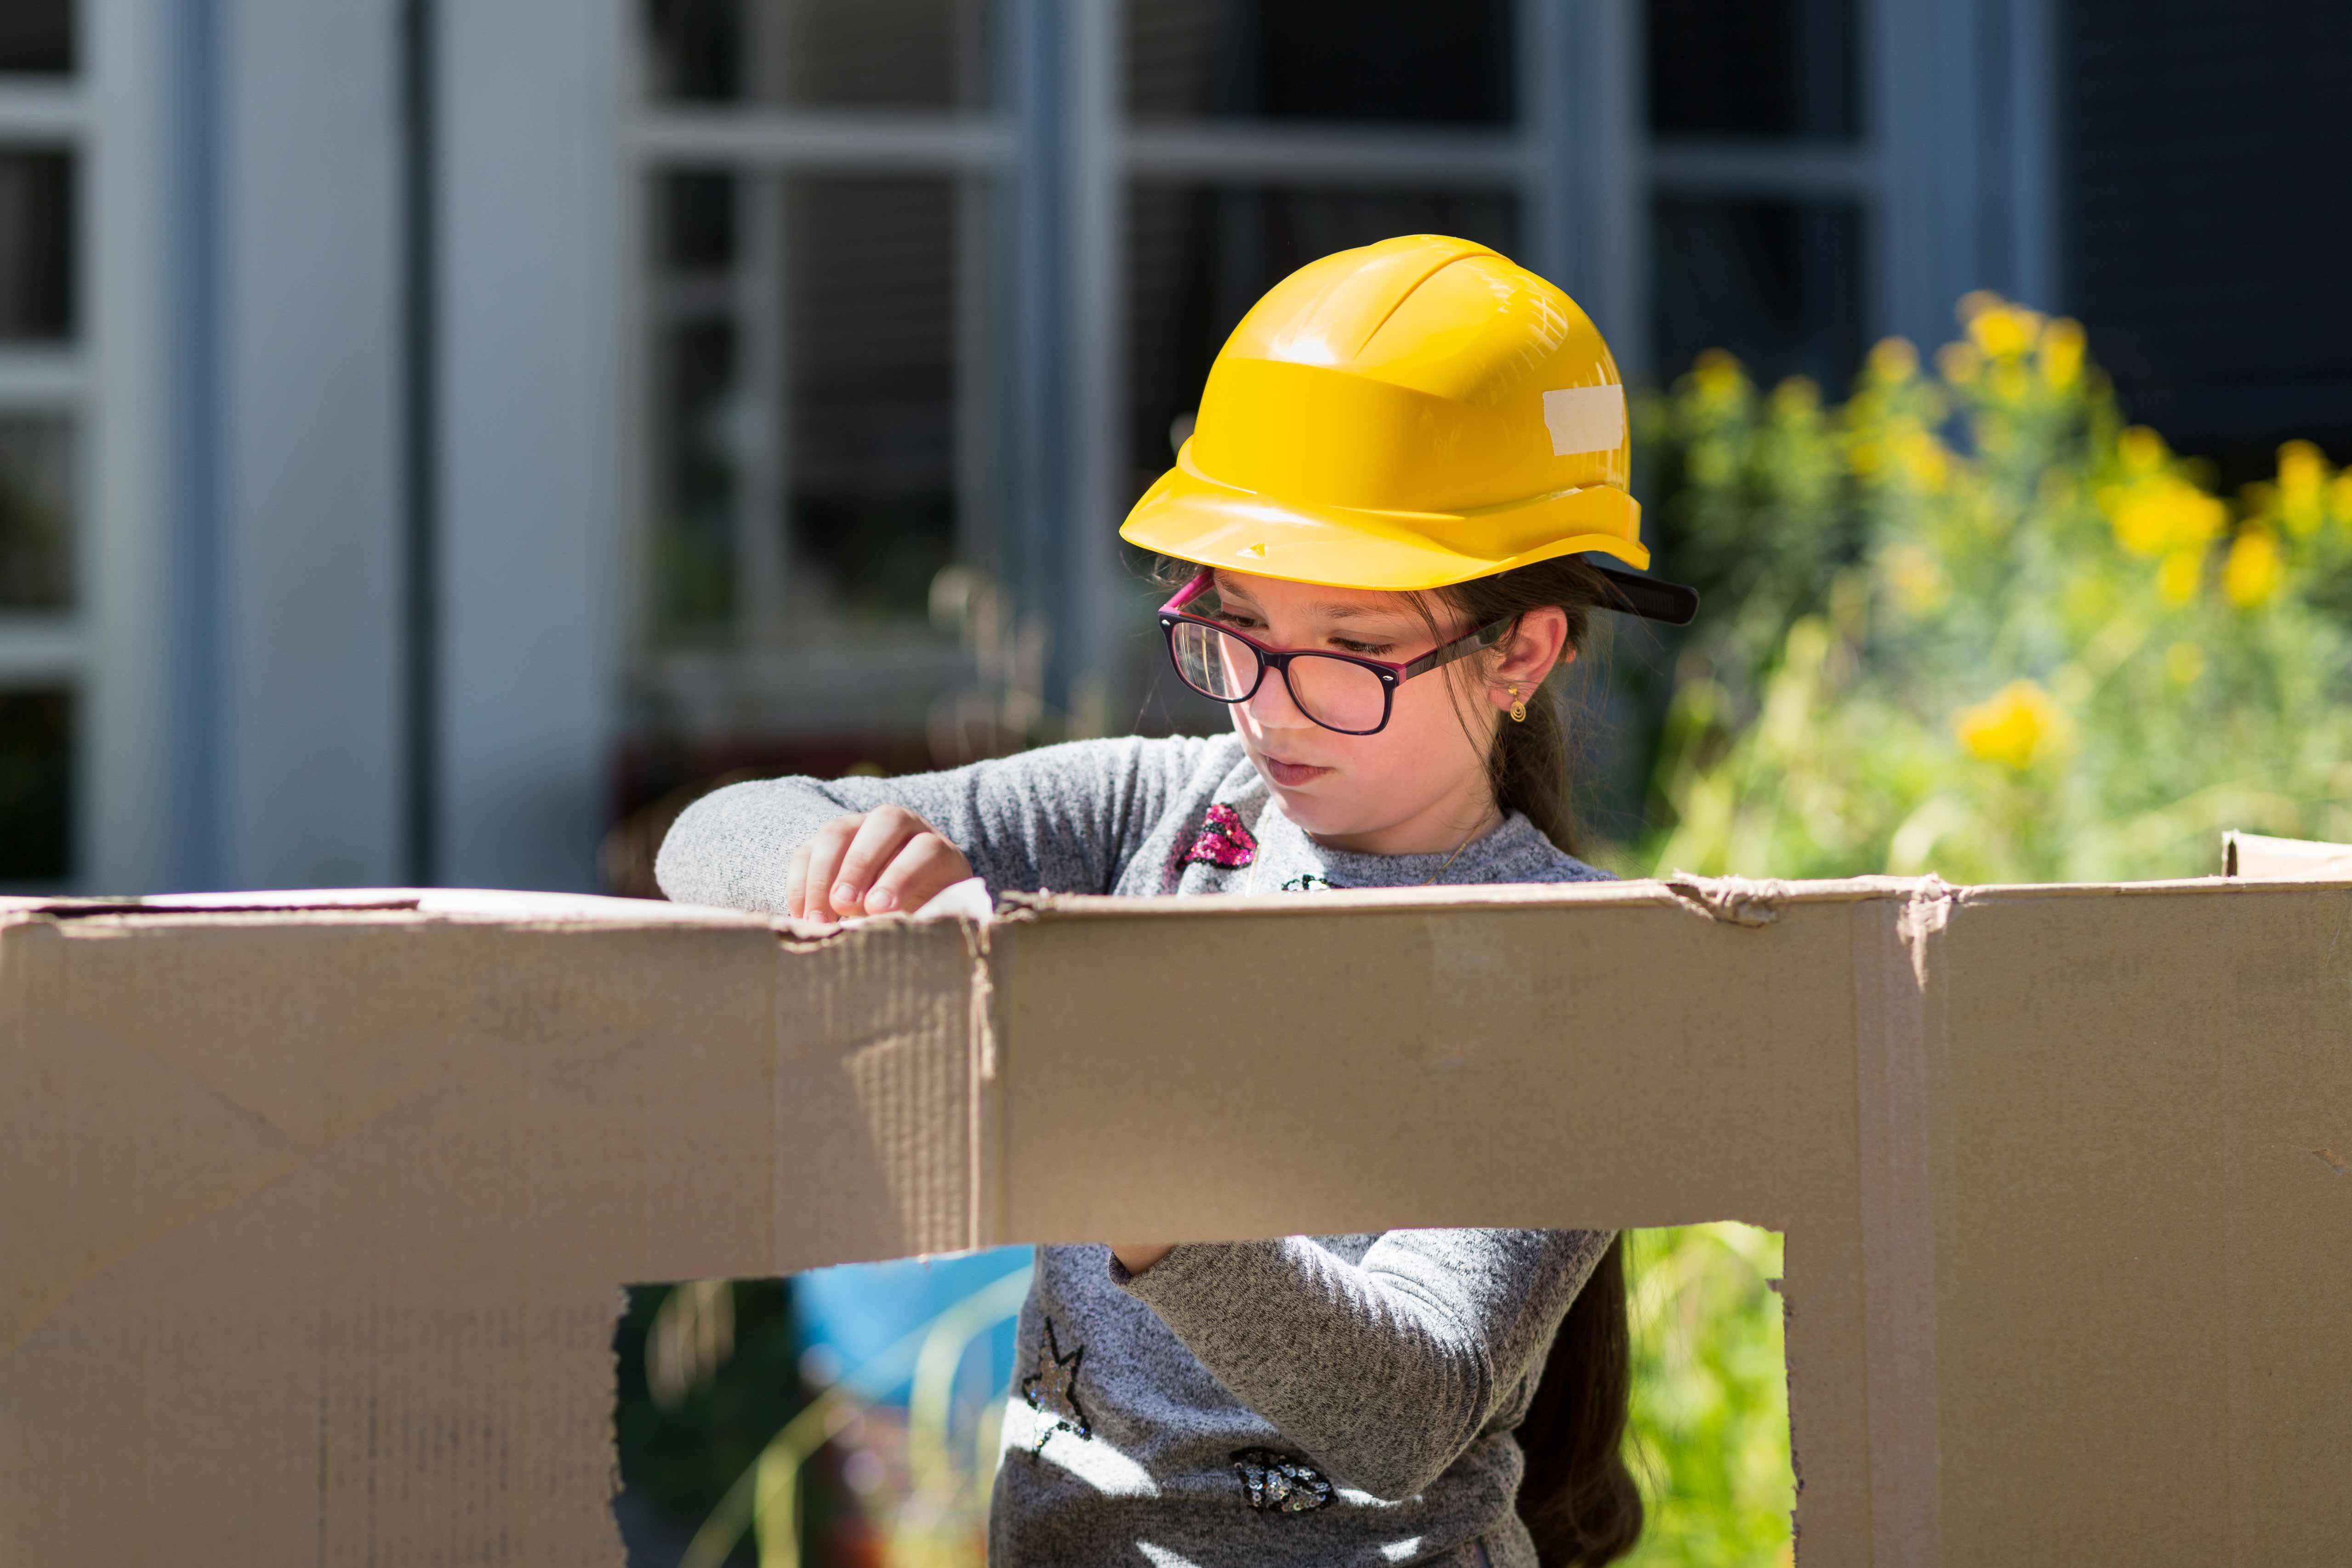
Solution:
<svg viewBox="0 0 2352 1568"><path fill-rule="evenodd" d="M1592 607L1611 604L1609 578L1557 557L1435 590L1463 625L1557 604L1569 614L1566 646L1583 651ZM1465 661L1465 670L1475 670ZM1569 799L1569 731L1548 693L1526 703L1526 722L1496 726L1486 752L1494 799L1522 811L1543 837L1576 853L1576 811ZM1526 1474L1519 1479L1519 1519L1536 1537L1543 1568L1599 1568L1642 1540L1642 1488L1625 1465L1625 1425L1632 1403L1632 1338L1625 1326L1625 1237L1602 1253L1569 1307L1536 1382L1536 1399L1519 1422Z"/></svg>

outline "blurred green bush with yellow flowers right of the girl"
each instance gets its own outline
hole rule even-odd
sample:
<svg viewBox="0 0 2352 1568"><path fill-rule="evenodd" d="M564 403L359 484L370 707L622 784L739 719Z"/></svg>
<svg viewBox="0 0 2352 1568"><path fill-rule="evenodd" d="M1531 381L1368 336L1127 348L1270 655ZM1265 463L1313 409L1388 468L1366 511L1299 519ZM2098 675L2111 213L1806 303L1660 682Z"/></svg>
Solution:
<svg viewBox="0 0 2352 1568"><path fill-rule="evenodd" d="M2082 327L1994 296L1851 397L1708 355L1639 411L1675 564L1644 867L2204 875L2220 830L2352 837L2352 480L2213 475L2131 428Z"/></svg>

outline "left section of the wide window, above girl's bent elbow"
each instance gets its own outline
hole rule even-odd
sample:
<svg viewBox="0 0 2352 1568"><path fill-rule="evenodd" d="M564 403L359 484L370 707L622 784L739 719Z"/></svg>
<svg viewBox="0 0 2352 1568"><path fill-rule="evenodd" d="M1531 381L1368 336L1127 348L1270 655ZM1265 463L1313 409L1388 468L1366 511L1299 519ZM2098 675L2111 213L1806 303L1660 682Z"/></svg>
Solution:
<svg viewBox="0 0 2352 1568"><path fill-rule="evenodd" d="M637 7L640 745L920 759L1000 505L993 56L983 0Z"/></svg>

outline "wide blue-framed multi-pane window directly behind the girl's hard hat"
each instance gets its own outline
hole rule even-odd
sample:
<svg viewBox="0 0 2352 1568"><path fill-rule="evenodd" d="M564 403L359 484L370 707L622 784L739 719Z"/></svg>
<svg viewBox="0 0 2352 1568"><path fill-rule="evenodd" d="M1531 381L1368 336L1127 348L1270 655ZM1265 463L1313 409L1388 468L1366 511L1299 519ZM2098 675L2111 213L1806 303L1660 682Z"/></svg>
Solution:
<svg viewBox="0 0 2352 1568"><path fill-rule="evenodd" d="M934 585L969 595L950 564L1044 607L1051 651L997 649L1037 712L1216 722L1152 691L1150 590L1108 536L1235 322L1315 256L1484 240L1630 378L1724 346L1835 386L1877 329L1858 0L633 19L633 802L950 759L943 705L988 665L927 618Z"/></svg>

